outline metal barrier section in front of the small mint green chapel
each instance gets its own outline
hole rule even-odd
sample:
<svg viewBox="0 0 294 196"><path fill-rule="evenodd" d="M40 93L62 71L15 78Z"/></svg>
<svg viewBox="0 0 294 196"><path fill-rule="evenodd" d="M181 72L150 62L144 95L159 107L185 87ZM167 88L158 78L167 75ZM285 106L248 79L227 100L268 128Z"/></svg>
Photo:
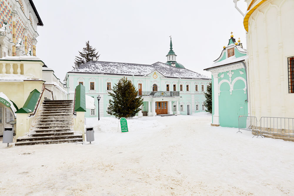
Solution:
<svg viewBox="0 0 294 196"><path fill-rule="evenodd" d="M240 130L247 130L247 131L251 131L254 134L254 136L263 137L261 135L260 129L258 129L258 124L257 124L258 121L255 116L239 116L238 121L239 121L239 130L237 131L237 133L238 132L242 133Z"/></svg>

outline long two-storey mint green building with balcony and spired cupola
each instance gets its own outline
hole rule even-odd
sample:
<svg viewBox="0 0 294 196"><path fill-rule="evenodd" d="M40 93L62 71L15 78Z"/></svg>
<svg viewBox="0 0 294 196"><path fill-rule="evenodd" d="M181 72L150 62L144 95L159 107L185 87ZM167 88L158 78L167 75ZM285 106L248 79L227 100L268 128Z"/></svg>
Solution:
<svg viewBox="0 0 294 196"><path fill-rule="evenodd" d="M96 109L87 109L85 117L98 117L98 100L100 116L108 115L108 104L114 84L126 76L143 97L142 110L138 116L155 116L165 114L191 115L205 111L204 92L211 79L186 69L176 61L176 54L170 42L167 62L151 65L134 63L116 63L89 61L66 73L66 87L69 87L69 99L74 99L74 89L78 84L86 88L86 95L95 100Z"/></svg>

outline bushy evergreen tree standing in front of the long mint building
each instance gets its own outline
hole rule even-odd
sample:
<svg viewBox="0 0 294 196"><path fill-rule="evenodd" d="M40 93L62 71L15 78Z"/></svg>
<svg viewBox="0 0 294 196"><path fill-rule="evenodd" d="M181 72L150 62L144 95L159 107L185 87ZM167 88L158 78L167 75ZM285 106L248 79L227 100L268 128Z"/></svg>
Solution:
<svg viewBox="0 0 294 196"><path fill-rule="evenodd" d="M113 93L108 92L113 100L109 100L108 113L117 118L133 117L141 110L143 105L142 96L138 96L138 91L131 80L123 77L111 89Z"/></svg>

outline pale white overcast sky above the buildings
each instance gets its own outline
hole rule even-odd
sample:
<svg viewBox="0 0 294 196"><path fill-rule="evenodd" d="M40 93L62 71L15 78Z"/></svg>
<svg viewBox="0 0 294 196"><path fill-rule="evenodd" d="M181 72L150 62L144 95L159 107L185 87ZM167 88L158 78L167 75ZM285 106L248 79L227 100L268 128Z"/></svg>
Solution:
<svg viewBox="0 0 294 196"><path fill-rule="evenodd" d="M99 61L165 63L172 36L177 62L203 71L228 44L230 32L244 48L243 16L233 0L34 0L44 26L38 26L36 55L64 80L85 42ZM245 12L246 4L238 6Z"/></svg>

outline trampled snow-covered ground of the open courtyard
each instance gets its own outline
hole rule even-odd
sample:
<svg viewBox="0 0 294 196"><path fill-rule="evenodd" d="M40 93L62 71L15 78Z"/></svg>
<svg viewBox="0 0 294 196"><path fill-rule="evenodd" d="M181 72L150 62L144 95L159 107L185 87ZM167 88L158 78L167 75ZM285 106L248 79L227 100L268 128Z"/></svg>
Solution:
<svg viewBox="0 0 294 196"><path fill-rule="evenodd" d="M0 195L294 195L294 143L211 116L101 118L92 145L0 145Z"/></svg>

